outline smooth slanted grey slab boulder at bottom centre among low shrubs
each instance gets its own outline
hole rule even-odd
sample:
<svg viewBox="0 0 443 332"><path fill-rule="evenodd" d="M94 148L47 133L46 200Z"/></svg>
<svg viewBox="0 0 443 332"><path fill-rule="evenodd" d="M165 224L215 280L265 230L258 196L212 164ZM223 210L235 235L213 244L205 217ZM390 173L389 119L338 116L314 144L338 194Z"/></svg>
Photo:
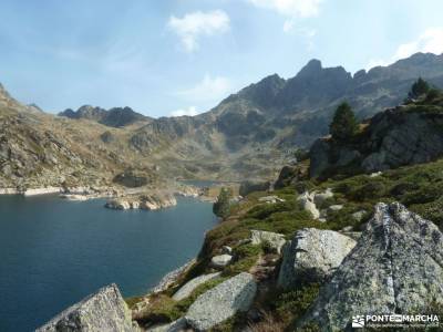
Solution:
<svg viewBox="0 0 443 332"><path fill-rule="evenodd" d="M209 330L236 312L247 311L256 292L254 277L239 273L199 295L186 313L186 321L197 331Z"/></svg>

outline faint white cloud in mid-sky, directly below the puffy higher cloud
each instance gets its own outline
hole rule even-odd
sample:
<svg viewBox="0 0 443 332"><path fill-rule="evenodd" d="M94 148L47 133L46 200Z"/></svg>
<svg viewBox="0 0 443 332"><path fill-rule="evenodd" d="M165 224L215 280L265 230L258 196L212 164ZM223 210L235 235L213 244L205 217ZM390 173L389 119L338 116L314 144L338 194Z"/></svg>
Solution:
<svg viewBox="0 0 443 332"><path fill-rule="evenodd" d="M231 92L231 83L223 76L205 77L195 86L177 92L176 94L190 102L213 102L226 97Z"/></svg>

